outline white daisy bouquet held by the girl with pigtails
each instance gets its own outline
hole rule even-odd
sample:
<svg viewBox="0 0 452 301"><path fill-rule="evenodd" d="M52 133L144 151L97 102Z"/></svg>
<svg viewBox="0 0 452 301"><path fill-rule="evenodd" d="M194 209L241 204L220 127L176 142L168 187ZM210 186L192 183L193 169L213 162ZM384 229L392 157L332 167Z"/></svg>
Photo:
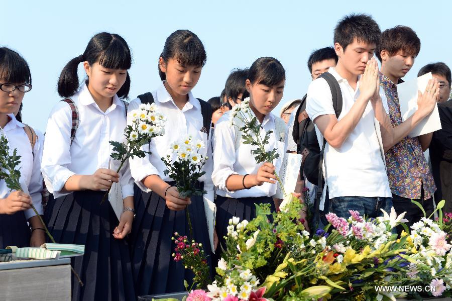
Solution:
<svg viewBox="0 0 452 301"><path fill-rule="evenodd" d="M132 125L128 125L124 130L126 142L109 142L113 146L110 157L121 161L116 172L121 170L129 158L143 158L148 152L141 150L141 147L149 144L152 138L165 134L166 116L157 110L155 104L141 104L139 109L131 114ZM101 203L105 201L109 191L110 188L103 195Z"/></svg>

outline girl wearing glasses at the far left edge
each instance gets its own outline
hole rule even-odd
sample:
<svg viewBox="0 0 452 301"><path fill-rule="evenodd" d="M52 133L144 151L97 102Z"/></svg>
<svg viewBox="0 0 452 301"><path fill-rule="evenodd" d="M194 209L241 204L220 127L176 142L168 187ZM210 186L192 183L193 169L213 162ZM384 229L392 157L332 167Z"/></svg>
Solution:
<svg viewBox="0 0 452 301"><path fill-rule="evenodd" d="M17 149L21 156L20 183L28 190L11 192L5 180L0 181L0 249L7 246L38 247L45 242L44 227L31 209L33 204L42 214L40 165L44 137L41 133L35 134L14 116L25 92L31 90L31 82L30 68L25 59L9 48L0 48L0 135L8 139L10 154Z"/></svg>

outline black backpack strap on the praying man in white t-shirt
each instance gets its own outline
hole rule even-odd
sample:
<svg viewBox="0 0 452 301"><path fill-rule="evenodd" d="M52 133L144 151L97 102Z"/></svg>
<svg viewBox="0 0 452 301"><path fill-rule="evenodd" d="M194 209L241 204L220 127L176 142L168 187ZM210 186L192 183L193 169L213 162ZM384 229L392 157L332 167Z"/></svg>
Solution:
<svg viewBox="0 0 452 301"><path fill-rule="evenodd" d="M322 73L319 77L326 80L331 90L331 100L336 114L336 118L339 118L342 112L342 91L339 83L337 82L334 75L329 72ZM320 199L323 192L323 154L325 151L326 139L323 138L323 145L320 151L320 160L318 162L318 183L317 183L317 195L315 196L315 214L320 218ZM326 172L325 172L326 175ZM325 179L326 180L326 179ZM325 208L323 208L325 211Z"/></svg>

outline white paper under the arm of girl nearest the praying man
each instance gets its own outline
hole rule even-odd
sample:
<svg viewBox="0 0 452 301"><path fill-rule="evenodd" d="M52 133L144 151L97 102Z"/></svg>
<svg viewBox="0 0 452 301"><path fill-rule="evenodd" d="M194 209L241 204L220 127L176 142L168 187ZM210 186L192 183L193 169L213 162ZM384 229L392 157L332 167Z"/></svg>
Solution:
<svg viewBox="0 0 452 301"><path fill-rule="evenodd" d="M278 176L284 185L286 193L295 191L295 185L297 184L298 174L300 172L301 158L302 155L300 154L284 154L284 159L281 164L281 168L279 169ZM284 193L279 183L274 197L281 199L284 198Z"/></svg>

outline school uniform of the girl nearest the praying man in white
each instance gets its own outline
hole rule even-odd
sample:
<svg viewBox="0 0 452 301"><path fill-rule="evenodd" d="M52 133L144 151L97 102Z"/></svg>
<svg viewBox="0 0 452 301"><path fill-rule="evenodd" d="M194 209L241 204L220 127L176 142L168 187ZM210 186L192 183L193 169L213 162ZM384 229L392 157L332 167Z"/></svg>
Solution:
<svg viewBox="0 0 452 301"><path fill-rule="evenodd" d="M234 119L234 126L230 125L230 112L224 113L215 126L215 138L213 144L213 173L212 180L216 189L216 234L219 243L225 248L224 236L227 236L227 226L232 217L240 220L250 221L256 217L255 204L270 204L271 210L275 211L272 196L276 193L277 183L264 182L261 186L250 189L231 191L226 187L226 181L233 174L256 174L259 167L264 163L257 164L255 156L251 153L256 146L244 144L242 132L243 126L239 118ZM252 112L252 111L251 111ZM254 113L252 112L253 116ZM278 130L281 129L281 130ZM270 134L269 143L265 145L266 151L278 150L279 157L273 160L275 171L278 173L285 153L284 133L286 125L284 121L273 114L264 117L261 124L261 137L265 133ZM220 246L218 245L218 249Z"/></svg>

